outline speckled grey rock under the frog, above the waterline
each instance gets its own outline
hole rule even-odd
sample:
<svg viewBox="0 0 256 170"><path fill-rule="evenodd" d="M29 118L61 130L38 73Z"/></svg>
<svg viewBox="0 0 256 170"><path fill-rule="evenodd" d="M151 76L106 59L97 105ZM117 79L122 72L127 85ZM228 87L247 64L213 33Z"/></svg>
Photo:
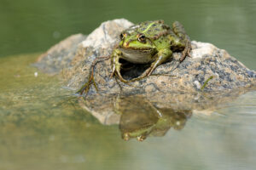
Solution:
<svg viewBox="0 0 256 170"><path fill-rule="evenodd" d="M87 82L92 61L111 54L113 46L118 40L119 32L131 26L126 25L117 28L117 26L112 25L116 25L115 20L103 23L90 34L90 38L88 37L81 43L79 52L74 57L76 59L75 64L64 71L67 87L79 89ZM117 28L117 31L113 31L113 28ZM104 29L105 31L103 31ZM113 34L109 33L111 31ZM172 71L172 68L177 65L179 57L180 54L174 54L172 62L157 67L153 76L131 82L130 85L123 82L117 83L115 79L111 79L110 59L102 61L96 65L94 72L99 93L118 94L120 91L119 84L125 94L173 93L177 91L192 93L200 91L210 77L212 79L207 82L205 91L249 87L255 82L255 71L250 71L225 50L218 49L211 43L193 41L191 58L185 59L175 71ZM96 93L96 88L92 86L89 94Z"/></svg>

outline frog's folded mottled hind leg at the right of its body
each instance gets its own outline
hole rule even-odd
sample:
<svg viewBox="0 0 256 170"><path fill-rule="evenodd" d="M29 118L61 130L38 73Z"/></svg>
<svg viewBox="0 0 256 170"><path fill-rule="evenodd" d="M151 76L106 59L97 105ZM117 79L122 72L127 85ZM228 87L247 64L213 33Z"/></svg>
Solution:
<svg viewBox="0 0 256 170"><path fill-rule="evenodd" d="M189 36L186 34L183 25L178 21L173 22L172 30L179 38L179 41L175 41L174 45L177 46L177 48L183 47L183 53L181 58L179 59L179 61L182 62L187 55L190 57L191 41Z"/></svg>

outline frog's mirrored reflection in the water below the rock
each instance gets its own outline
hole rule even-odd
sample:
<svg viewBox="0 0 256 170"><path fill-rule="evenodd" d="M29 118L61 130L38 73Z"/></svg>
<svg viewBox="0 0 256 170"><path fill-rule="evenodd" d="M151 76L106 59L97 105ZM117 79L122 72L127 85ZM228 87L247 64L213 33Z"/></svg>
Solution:
<svg viewBox="0 0 256 170"><path fill-rule="evenodd" d="M116 112L121 114L119 129L122 138L137 138L138 141L143 141L148 135L164 136L171 127L182 129L191 116L188 110L156 109L147 99L137 96L120 98Z"/></svg>

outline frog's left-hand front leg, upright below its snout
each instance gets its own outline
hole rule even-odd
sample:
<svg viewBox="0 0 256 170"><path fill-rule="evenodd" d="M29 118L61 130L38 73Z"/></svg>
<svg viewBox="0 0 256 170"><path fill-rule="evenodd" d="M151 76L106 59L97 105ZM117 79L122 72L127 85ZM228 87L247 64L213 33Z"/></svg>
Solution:
<svg viewBox="0 0 256 170"><path fill-rule="evenodd" d="M125 80L120 71L121 71L121 64L119 63L119 59L122 57L122 52L119 50L119 48L115 48L111 54L111 77L113 77L113 74L116 74L119 77L119 80L121 82L128 82Z"/></svg>

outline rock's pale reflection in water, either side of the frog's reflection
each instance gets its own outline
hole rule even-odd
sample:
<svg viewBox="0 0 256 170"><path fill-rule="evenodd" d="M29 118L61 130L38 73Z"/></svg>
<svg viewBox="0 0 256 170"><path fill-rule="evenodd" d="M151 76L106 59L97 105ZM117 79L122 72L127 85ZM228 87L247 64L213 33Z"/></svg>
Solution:
<svg viewBox="0 0 256 170"><path fill-rule="evenodd" d="M254 88L255 89L255 88ZM245 94L247 89L230 90L224 92L211 92L211 93L181 93L173 92L170 94L155 93L155 94L137 94L137 95L122 95L120 98L129 98L133 96L136 98L147 99L154 107L159 111L166 112L172 108L173 111L193 111L193 113L203 113L207 110L207 113L217 110L223 107L228 102L236 99L239 95ZM102 122L102 124L118 124L120 114L116 114L116 100L115 95L88 95L86 99L82 97L79 99L79 104L86 110L90 111L93 116ZM127 106L127 105L126 105ZM141 109L142 106L138 105ZM135 106L131 108L134 109ZM150 108L148 108L151 110ZM136 111L136 110L135 110ZM120 112L120 111L119 111ZM124 112L124 111L123 111Z"/></svg>

